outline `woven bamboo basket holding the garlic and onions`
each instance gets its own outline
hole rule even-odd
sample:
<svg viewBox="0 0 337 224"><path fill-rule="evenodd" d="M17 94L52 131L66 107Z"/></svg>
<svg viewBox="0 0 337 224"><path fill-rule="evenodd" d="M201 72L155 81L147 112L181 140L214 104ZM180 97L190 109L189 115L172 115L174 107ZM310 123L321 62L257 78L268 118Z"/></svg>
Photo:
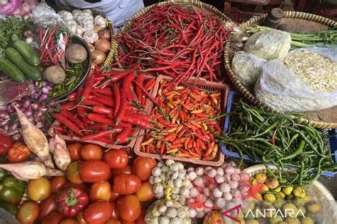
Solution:
<svg viewBox="0 0 337 224"><path fill-rule="evenodd" d="M67 5L60 6L59 8L60 10L65 10L65 11L73 11L74 9L77 9L77 8L67 6ZM80 9L80 10L85 10L85 9ZM107 20L107 28L109 28L109 31L111 33L109 54L107 55L107 58L105 59L102 65L103 69L107 69L109 65L111 65L112 62L114 62L116 53L117 53L117 47L118 47L116 41L114 40L114 26L113 26L112 21L109 21L109 19L105 16L104 13L102 13L101 11L97 11L96 9L90 9L90 10L92 11L93 16L100 15Z"/></svg>

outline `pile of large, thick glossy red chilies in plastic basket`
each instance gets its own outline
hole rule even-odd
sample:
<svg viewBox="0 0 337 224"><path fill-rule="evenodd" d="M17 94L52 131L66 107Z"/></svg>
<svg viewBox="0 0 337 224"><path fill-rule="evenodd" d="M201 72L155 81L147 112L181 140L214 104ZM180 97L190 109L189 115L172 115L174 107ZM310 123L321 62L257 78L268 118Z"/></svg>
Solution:
<svg viewBox="0 0 337 224"><path fill-rule="evenodd" d="M142 112L155 80L138 69L95 69L85 85L68 96L60 113L54 113L60 123L55 133L116 145L129 142L139 128L149 129L149 117Z"/></svg>

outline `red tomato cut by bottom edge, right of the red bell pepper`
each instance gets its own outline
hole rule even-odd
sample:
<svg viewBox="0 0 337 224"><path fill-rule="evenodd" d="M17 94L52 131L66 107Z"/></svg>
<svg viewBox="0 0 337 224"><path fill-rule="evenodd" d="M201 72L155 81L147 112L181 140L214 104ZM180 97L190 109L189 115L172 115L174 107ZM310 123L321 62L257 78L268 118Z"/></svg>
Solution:
<svg viewBox="0 0 337 224"><path fill-rule="evenodd" d="M114 205L109 201L95 201L84 211L84 218L90 224L104 224L111 218Z"/></svg>

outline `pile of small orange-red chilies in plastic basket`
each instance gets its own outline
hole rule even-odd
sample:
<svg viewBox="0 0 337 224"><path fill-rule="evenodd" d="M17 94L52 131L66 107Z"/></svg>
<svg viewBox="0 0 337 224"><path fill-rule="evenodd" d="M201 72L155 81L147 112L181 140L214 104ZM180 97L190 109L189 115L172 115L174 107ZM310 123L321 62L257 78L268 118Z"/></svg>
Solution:
<svg viewBox="0 0 337 224"><path fill-rule="evenodd" d="M141 151L192 159L213 160L221 133L221 93L196 86L171 86L161 80L156 106L151 112L154 128L141 143Z"/></svg>

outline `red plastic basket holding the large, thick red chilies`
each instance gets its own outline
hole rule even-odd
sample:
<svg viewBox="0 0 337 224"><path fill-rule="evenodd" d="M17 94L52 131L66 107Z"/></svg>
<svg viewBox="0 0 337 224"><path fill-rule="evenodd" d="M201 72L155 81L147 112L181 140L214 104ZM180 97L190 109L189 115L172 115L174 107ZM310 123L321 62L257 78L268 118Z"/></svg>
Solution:
<svg viewBox="0 0 337 224"><path fill-rule="evenodd" d="M149 80L149 79L154 79L154 77L146 75L145 76L145 80ZM154 89L155 88L156 88L156 86L154 86ZM154 89L152 89L152 91L150 92L150 94L153 93ZM144 112L147 113L147 114L149 114L151 112L151 107L152 107L151 101L149 99L146 99L146 103L145 103L145 106L144 106ZM53 126L54 125L52 125L52 127L50 127L49 130L48 130L48 135L50 135L51 137L55 136L55 132L54 132ZM60 134L58 134L58 136L60 138L62 138L63 140L66 140L66 141L90 143L90 144L100 145L102 147L107 147L109 149L117 149L117 150L122 149L122 148L132 149L132 147L134 147L134 144L136 143L138 135L139 135L139 131L137 131L136 133L134 133L134 135L132 136L132 140L127 145L113 145L113 144L107 144L105 142L100 142L100 141L97 141L97 140L82 140L82 138L80 138L80 137L76 137L76 136L72 137L72 136L68 136L68 135L60 135Z"/></svg>

